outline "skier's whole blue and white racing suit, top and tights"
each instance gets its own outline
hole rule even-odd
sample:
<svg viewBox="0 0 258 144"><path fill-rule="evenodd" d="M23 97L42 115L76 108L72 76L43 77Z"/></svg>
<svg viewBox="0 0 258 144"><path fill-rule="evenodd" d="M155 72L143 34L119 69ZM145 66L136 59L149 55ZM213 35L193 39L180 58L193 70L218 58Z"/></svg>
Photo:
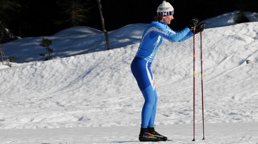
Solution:
<svg viewBox="0 0 258 144"><path fill-rule="evenodd" d="M171 42L182 42L192 36L188 27L177 33L162 21L152 21L144 30L139 49L131 63L131 71L145 99L142 128L154 127L158 96L150 67L163 38Z"/></svg>

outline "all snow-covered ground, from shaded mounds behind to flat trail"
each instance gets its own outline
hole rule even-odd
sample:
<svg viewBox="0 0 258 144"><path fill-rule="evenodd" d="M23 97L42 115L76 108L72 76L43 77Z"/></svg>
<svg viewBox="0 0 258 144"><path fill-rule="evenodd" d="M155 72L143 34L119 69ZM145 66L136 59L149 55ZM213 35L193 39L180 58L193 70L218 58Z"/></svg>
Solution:
<svg viewBox="0 0 258 144"><path fill-rule="evenodd" d="M236 24L236 13L204 20L207 27L214 25L202 37L205 140L200 35L196 142L191 142L193 40L165 40L159 48L152 64L159 97L155 130L173 140L167 143L258 143L258 16L248 13L252 22ZM144 99L130 64L147 25L110 31L109 51L102 32L89 27L46 36L54 49L49 61L38 55L47 53L39 46L42 37L3 44L6 57L16 63L0 64L0 143L139 143Z"/></svg>

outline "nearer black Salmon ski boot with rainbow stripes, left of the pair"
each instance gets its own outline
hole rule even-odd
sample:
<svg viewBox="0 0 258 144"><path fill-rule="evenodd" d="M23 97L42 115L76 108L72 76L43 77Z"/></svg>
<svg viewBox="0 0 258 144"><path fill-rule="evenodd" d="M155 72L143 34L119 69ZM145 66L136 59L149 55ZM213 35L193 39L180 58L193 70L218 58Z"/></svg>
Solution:
<svg viewBox="0 0 258 144"><path fill-rule="evenodd" d="M141 128L139 134L140 141L160 141L159 137L155 137L153 134L150 134L148 128Z"/></svg>

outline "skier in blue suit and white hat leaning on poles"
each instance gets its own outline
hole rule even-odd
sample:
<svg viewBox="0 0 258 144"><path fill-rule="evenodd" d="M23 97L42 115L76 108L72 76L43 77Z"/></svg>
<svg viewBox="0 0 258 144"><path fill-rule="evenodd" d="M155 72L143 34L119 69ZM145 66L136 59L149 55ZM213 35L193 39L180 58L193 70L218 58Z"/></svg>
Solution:
<svg viewBox="0 0 258 144"><path fill-rule="evenodd" d="M144 97L144 105L141 114L140 141L166 141L167 137L157 133L154 129L158 96L155 81L151 72L151 63L163 43L163 38L170 42L182 42L195 33L204 30L204 26L198 24L198 19L189 21L189 24L179 33L173 31L167 25L173 20L174 8L166 1L158 6L154 21L144 30L139 49L131 63L131 71Z"/></svg>

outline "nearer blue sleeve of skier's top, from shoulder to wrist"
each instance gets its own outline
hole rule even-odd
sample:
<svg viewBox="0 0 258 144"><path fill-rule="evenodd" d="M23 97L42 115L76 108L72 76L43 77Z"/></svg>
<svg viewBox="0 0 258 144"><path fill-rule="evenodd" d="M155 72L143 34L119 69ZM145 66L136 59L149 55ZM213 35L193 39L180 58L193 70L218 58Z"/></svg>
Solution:
<svg viewBox="0 0 258 144"><path fill-rule="evenodd" d="M167 25L164 26L162 24L158 24L158 25L156 25L156 28L158 30L156 30L155 32L158 35L166 38L170 42L181 42L181 41L184 41L184 40L190 38L191 37L191 33L192 33L188 27L184 28L179 33L176 33L171 28L169 28ZM189 32L190 32L190 34L189 34ZM193 34L192 34L192 36L193 36Z"/></svg>

